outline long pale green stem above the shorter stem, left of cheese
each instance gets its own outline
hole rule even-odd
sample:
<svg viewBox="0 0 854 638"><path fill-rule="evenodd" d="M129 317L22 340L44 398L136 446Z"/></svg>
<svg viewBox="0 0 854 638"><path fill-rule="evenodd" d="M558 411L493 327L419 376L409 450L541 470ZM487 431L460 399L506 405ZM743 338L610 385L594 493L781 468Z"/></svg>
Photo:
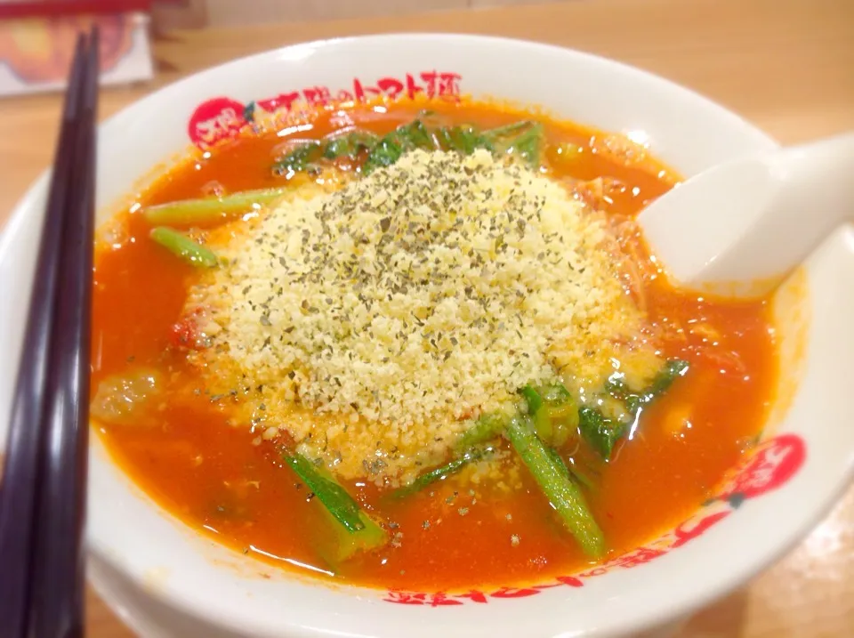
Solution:
<svg viewBox="0 0 854 638"><path fill-rule="evenodd" d="M232 214L269 204L285 193L286 189L244 190L222 198L183 199L148 206L142 214L153 226L199 226L222 222Z"/></svg>

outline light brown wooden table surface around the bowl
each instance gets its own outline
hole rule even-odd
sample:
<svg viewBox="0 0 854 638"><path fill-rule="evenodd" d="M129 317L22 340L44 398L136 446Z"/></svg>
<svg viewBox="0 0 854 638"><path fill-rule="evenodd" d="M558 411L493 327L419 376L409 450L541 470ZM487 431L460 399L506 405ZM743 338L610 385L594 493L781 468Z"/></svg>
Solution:
<svg viewBox="0 0 854 638"><path fill-rule="evenodd" d="M522 37L598 53L704 93L782 142L854 129L854 0L576 0L175 32L154 43L157 79L105 90L101 117L157 86L248 53L400 30ZM0 225L51 161L59 105L56 95L0 101ZM87 615L89 638L132 635L94 595ZM700 611L680 635L854 635L854 489L794 552Z"/></svg>

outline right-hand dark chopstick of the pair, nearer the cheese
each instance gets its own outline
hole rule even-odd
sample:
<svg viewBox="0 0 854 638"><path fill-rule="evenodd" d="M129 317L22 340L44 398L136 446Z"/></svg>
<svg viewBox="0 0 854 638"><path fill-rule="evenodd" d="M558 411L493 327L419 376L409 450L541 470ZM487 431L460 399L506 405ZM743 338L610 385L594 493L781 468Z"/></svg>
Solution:
<svg viewBox="0 0 854 638"><path fill-rule="evenodd" d="M38 638L83 635L86 456L94 243L98 32L89 38L70 205L62 230L39 466L30 621Z"/></svg>

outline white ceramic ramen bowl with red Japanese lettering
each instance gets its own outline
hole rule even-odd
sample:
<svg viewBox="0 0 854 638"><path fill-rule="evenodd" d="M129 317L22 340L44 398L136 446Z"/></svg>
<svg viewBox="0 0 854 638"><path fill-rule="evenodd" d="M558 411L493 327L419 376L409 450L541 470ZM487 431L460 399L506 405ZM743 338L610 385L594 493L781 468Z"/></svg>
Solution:
<svg viewBox="0 0 854 638"><path fill-rule="evenodd" d="M686 175L775 146L695 93L584 53L475 36L345 38L230 62L110 118L99 142L101 217L190 140L227 135L239 124L241 104L274 96L285 102L294 92L318 97L319 87L336 97L359 90L370 95L377 87L406 93L410 85L540 105L584 124L644 134L657 157ZM29 190L0 241L2 428L46 184L44 175ZM768 249L774 249L771 238ZM854 354L854 230L841 228L826 239L777 295L774 311L782 340L780 401L757 453L689 521L600 569L467 597L332 588L277 573L197 536L135 488L94 437L90 576L126 622L152 637L537 638L661 626L768 565L807 534L850 481L854 404L844 379Z"/></svg>

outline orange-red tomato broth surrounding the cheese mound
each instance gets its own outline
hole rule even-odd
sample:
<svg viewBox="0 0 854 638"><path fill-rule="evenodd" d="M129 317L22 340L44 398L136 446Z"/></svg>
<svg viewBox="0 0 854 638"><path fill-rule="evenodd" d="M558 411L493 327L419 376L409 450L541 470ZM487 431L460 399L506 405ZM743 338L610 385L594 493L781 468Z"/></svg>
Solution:
<svg viewBox="0 0 854 638"><path fill-rule="evenodd" d="M422 106L403 102L391 105L388 113L368 107L348 113L355 125L386 133L416 117ZM481 128L527 117L468 102L431 109L454 123L474 122ZM301 131L299 138L330 133L333 117L333 110L321 112L310 134ZM612 153L592 152L603 148L603 133L538 119L550 143L568 141L585 151L568 166L547 154L552 175L618 180L619 192L608 213L619 218L637 214L677 181L649 156L627 163ZM241 135L175 166L149 187L140 203L201 197L210 194L212 183L226 192L286 183L270 172L284 139L276 133ZM311 530L327 520L275 448L255 445L257 432L250 432L248 424L230 423L228 409L212 407L204 393L195 396L179 389L191 384L193 373L167 344L193 271L148 240L149 226L140 214L126 219L127 239L119 247L99 246L96 256L93 388L128 365L158 367L172 384L159 413L160 427L102 425L103 440L142 489L192 528L278 566L325 570ZM663 353L688 359L691 367L642 415L632 440L618 443L598 488L587 494L609 557L655 537L697 509L760 432L777 378L767 300L698 297L649 274L643 290L649 319L665 335ZM720 336L693 330L700 324ZM671 432L668 414L686 405L691 427ZM391 502L371 484L345 484L360 503L393 522L391 533L402 537L399 546L387 545L344 563L336 577L367 586L447 591L532 583L590 564L553 518L536 483L524 470L521 474L524 489L500 498L490 498L488 489L475 497L462 490L454 497L455 482L444 481Z"/></svg>

